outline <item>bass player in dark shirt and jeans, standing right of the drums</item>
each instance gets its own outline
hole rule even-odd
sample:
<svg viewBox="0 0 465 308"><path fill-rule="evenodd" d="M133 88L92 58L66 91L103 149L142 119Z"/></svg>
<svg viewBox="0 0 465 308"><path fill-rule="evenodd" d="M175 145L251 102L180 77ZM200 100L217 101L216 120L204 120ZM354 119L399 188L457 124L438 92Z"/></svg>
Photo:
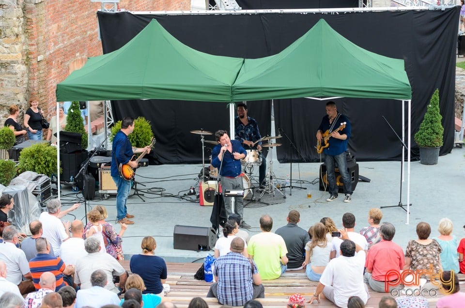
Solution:
<svg viewBox="0 0 465 308"><path fill-rule="evenodd" d="M341 128L341 124L344 122L345 127ZM338 112L336 103L333 101L326 103L326 115L321 120L318 132L316 133L318 141L322 141L324 138L323 134L326 131L328 131L331 136L331 138L327 140L329 146L325 147L323 150L325 153L325 165L330 194L326 201L330 202L338 198L338 186L336 184L336 175L334 172L334 168L337 165L344 184L344 202L350 202L353 192L349 172L347 171L346 158L347 143L350 138L350 122L345 115ZM322 146L325 146L325 144L322 144Z"/></svg>

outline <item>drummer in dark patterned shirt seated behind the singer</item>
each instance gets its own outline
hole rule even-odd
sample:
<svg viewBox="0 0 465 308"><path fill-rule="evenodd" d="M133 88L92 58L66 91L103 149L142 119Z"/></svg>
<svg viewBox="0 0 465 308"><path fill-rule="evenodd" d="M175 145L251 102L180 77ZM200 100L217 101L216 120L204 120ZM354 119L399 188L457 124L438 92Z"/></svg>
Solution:
<svg viewBox="0 0 465 308"><path fill-rule="evenodd" d="M247 116L247 105L244 103L237 104L237 117L235 118L235 137L234 139L240 141L246 150L255 150L262 152L262 136L258 130L257 121L254 118ZM260 141L258 141L260 140ZM254 142L258 141L256 144ZM258 178L260 186L264 186L266 175L266 157L261 155L262 164L258 170Z"/></svg>

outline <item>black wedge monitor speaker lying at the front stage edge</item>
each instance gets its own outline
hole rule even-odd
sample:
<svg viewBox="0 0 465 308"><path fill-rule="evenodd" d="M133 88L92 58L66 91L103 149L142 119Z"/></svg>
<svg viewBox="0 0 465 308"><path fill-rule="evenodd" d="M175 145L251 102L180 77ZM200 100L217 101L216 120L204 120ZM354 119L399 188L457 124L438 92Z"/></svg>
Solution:
<svg viewBox="0 0 465 308"><path fill-rule="evenodd" d="M213 228L174 226L174 249L184 250L210 250L215 247L217 235Z"/></svg>

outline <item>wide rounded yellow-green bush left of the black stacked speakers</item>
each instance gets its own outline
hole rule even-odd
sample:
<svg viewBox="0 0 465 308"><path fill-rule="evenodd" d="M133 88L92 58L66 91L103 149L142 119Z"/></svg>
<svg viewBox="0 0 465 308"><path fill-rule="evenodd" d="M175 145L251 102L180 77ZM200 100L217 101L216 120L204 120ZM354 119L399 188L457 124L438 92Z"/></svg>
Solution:
<svg viewBox="0 0 465 308"><path fill-rule="evenodd" d="M51 176L57 174L57 148L47 143L36 143L19 154L18 171L34 171Z"/></svg>

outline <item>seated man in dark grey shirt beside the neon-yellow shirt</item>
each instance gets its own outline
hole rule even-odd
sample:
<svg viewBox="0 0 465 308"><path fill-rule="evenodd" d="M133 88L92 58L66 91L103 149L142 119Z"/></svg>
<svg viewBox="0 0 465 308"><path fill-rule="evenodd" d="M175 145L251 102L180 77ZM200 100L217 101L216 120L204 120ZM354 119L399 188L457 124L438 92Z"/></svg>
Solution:
<svg viewBox="0 0 465 308"><path fill-rule="evenodd" d="M287 225L275 231L286 243L287 258L289 259L286 271L301 270L305 261L305 245L310 241L309 233L297 226L297 223L300 222L298 211L290 211L286 220Z"/></svg>

